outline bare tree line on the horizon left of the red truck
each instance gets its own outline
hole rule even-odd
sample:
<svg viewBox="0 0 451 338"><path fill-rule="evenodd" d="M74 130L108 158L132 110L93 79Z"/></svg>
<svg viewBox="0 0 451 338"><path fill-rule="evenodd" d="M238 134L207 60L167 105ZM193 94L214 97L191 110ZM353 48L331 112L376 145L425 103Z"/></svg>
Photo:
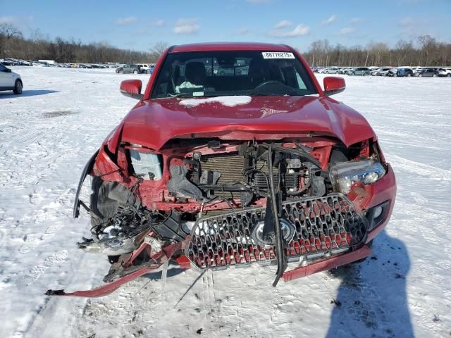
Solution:
<svg viewBox="0 0 451 338"><path fill-rule="evenodd" d="M119 49L107 42L83 44L75 39L50 39L39 30L25 38L11 23L0 25L0 58L54 60L61 63L154 63L166 46L165 42L159 42L150 51L132 51Z"/></svg>

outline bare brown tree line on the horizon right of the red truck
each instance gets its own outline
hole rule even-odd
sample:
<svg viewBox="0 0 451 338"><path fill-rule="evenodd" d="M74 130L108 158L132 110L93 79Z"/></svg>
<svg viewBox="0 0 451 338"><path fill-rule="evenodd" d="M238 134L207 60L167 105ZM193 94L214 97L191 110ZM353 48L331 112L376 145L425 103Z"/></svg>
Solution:
<svg viewBox="0 0 451 338"><path fill-rule="evenodd" d="M400 40L394 48L383 42L347 47L341 44L332 46L328 40L317 40L312 42L304 57L314 67L447 66L451 65L451 44L438 42L430 35L422 35L415 43Z"/></svg>

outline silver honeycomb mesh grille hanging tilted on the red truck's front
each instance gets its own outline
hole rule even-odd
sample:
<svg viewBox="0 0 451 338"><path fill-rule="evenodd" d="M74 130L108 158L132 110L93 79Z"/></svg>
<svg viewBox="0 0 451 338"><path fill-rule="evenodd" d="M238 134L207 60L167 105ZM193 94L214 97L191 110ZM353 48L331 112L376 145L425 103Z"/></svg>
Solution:
<svg viewBox="0 0 451 338"><path fill-rule="evenodd" d="M252 228L264 220L265 208L240 209L199 218L192 228L186 256L198 268L221 268L271 261L275 248L257 245ZM362 242L366 219L341 194L283 203L283 218L296 229L285 252L288 258L347 249Z"/></svg>

